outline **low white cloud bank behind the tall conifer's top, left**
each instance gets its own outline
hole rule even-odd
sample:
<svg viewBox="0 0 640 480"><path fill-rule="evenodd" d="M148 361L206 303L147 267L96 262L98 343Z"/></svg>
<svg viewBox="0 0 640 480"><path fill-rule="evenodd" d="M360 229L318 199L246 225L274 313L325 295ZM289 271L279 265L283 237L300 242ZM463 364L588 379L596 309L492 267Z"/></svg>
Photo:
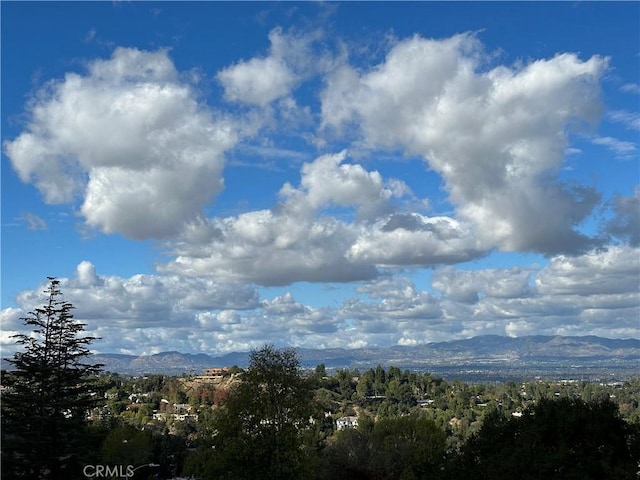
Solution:
<svg viewBox="0 0 640 480"><path fill-rule="evenodd" d="M77 266L73 278L61 278L60 288L64 300L74 305L75 318L85 323L86 333L99 337L93 348L101 352L221 353L248 350L265 341L329 345L330 338L322 337L340 324L335 315L302 305L290 293L260 300L250 285L209 277L100 275L89 261ZM46 302L44 290L41 285L22 292L19 308L0 312L3 351L16 348L11 335L25 331L20 318Z"/></svg>

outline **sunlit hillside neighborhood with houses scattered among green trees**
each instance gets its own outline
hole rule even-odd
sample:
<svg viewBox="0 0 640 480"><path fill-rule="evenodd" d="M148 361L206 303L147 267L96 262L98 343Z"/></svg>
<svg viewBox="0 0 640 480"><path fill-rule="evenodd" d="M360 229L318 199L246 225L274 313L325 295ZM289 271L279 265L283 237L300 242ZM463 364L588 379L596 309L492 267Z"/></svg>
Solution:
<svg viewBox="0 0 640 480"><path fill-rule="evenodd" d="M215 428L215 412L225 408L244 373L234 366L208 368L201 375L183 377L104 374L99 382L104 401L90 418L95 425L120 425L109 435L121 435L122 429L129 429L126 431L130 435L147 432L155 441L168 435L177 448L172 454L176 459L172 474L211 478L201 476L202 471L193 462L210 441L206 432ZM640 379L532 379L473 384L381 366L329 374L324 365L319 365L306 375L306 380L312 385L312 399L319 409L309 422L325 453L341 441L344 431L358 432L382 421L412 418L428 420L436 431L442 432L444 451L451 456L475 438L484 420L495 412L502 418L517 420L540 401L549 399L612 402L625 422L636 428L640 425ZM140 461L144 458L142 454Z"/></svg>

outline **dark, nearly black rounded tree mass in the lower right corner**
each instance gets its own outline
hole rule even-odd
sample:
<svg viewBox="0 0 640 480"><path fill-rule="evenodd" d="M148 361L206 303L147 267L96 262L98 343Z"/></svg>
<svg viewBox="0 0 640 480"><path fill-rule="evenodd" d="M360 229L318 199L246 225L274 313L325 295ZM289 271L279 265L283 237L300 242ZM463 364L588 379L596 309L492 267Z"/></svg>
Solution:
<svg viewBox="0 0 640 480"><path fill-rule="evenodd" d="M631 480L640 461L636 435L609 400L542 399L521 418L487 415L456 468L491 480Z"/></svg>

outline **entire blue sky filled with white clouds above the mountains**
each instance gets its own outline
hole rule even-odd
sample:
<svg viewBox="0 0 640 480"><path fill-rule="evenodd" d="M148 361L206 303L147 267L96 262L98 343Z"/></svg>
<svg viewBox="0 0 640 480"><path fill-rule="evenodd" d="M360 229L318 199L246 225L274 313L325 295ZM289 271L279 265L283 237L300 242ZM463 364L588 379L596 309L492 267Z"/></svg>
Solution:
<svg viewBox="0 0 640 480"><path fill-rule="evenodd" d="M3 352L640 336L637 2L2 2Z"/></svg>

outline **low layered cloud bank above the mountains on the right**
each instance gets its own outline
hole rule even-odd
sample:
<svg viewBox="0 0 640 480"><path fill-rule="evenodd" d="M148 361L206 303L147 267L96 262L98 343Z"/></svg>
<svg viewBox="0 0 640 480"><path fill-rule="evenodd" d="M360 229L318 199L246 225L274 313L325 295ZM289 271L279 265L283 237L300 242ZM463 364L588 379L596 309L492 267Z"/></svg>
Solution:
<svg viewBox="0 0 640 480"><path fill-rule="evenodd" d="M435 270L434 295L407 278L359 289L339 315L363 345L415 345L476 335L600 335L637 338L640 251L611 247L557 256L548 266Z"/></svg>

